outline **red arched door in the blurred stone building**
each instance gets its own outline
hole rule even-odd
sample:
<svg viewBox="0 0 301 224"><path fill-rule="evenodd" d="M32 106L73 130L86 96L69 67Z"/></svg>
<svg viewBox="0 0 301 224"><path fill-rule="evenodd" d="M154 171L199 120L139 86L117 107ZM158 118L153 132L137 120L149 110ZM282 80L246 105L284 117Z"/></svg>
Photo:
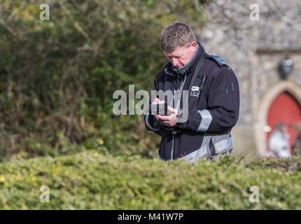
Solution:
<svg viewBox="0 0 301 224"><path fill-rule="evenodd" d="M301 107L295 100L295 98L288 92L282 92L279 94L271 106L269 106L269 112L267 113L267 125L272 127L276 123L295 124L301 120ZM271 132L272 132L271 131ZM271 132L267 132L267 139ZM297 138L297 132L293 128L288 128L288 134L290 134L290 154L293 154L292 146ZM268 145L268 144L267 144ZM269 150L269 148L267 148Z"/></svg>

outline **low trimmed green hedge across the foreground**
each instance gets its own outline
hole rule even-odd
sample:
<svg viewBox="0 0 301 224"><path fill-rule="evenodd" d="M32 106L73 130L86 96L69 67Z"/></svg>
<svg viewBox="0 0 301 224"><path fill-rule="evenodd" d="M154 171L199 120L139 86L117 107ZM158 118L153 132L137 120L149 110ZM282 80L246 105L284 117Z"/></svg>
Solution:
<svg viewBox="0 0 301 224"><path fill-rule="evenodd" d="M0 164L0 209L301 209L300 180L300 158L188 163L90 151Z"/></svg>

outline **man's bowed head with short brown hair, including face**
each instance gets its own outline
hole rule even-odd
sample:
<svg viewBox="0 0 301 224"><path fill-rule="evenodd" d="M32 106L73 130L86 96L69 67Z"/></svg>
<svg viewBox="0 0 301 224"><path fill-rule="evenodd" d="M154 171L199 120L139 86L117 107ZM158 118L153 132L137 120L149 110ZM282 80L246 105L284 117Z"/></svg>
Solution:
<svg viewBox="0 0 301 224"><path fill-rule="evenodd" d="M160 48L176 69L187 64L197 50L197 40L193 30L180 22L172 22L163 29Z"/></svg>

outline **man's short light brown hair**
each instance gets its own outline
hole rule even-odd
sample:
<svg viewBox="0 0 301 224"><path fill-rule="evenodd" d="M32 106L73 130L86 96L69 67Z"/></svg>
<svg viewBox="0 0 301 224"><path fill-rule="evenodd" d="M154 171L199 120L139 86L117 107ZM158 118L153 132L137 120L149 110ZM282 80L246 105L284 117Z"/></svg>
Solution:
<svg viewBox="0 0 301 224"><path fill-rule="evenodd" d="M160 36L160 49L173 52L178 47L189 46L197 41L193 30L181 22L172 22L163 29Z"/></svg>

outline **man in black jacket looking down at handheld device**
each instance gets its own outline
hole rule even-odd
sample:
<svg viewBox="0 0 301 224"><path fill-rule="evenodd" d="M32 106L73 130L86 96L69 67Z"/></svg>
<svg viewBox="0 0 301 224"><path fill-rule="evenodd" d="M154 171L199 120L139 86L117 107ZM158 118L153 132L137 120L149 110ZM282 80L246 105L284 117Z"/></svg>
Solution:
<svg viewBox="0 0 301 224"><path fill-rule="evenodd" d="M230 132L239 117L235 73L221 57L207 55L192 29L183 23L171 23L162 31L160 49L169 62L155 76L153 90L171 90L174 94L172 99L163 96L164 99L156 97L150 102L166 102L171 115L144 116L147 130L162 136L158 158L193 162L232 151ZM183 102L185 90L188 102ZM178 103L176 94L182 96ZM188 109L185 122L178 114L181 109Z"/></svg>

